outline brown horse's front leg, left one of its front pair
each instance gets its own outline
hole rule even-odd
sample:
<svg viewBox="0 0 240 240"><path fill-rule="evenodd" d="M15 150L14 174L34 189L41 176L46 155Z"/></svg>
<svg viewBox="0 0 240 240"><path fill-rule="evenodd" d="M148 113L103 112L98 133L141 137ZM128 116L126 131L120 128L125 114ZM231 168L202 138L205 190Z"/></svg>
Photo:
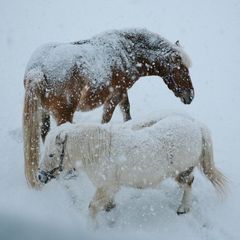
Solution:
<svg viewBox="0 0 240 240"><path fill-rule="evenodd" d="M113 112L120 101L120 94L114 94L104 103L102 123L108 123L111 120Z"/></svg>

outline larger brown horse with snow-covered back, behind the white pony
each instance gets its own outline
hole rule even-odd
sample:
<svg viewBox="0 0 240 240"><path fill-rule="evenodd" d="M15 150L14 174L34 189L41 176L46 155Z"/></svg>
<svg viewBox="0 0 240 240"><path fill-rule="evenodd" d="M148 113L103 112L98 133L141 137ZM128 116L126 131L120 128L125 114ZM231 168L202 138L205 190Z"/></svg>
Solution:
<svg viewBox="0 0 240 240"><path fill-rule="evenodd" d="M101 105L102 123L120 106L131 119L127 90L143 76L160 76L185 104L194 98L190 60L178 44L144 29L109 31L89 40L53 43L31 57L24 76L23 112L25 174L38 187L40 135L50 129L50 114L58 125L72 122L74 112Z"/></svg>

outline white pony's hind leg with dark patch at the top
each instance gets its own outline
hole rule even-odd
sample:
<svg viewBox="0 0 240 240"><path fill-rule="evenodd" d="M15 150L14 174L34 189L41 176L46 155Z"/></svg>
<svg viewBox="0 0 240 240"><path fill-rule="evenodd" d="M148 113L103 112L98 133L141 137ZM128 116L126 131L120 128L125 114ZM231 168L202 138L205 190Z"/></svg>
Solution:
<svg viewBox="0 0 240 240"><path fill-rule="evenodd" d="M187 171L180 173L176 177L176 181L183 188L183 197L180 206L178 207L177 214L184 214L190 211L192 202L192 183L194 177L192 175L193 167Z"/></svg>

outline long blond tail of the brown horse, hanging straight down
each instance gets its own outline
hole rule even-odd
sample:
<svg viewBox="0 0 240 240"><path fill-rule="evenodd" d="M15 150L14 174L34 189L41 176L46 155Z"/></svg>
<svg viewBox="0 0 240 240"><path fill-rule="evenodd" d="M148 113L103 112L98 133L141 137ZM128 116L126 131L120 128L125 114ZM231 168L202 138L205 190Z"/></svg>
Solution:
<svg viewBox="0 0 240 240"><path fill-rule="evenodd" d="M33 188L39 187L37 170L40 154L41 98L45 89L44 82L44 79L28 79L27 77L25 77L24 82L23 135L25 176L28 184Z"/></svg>

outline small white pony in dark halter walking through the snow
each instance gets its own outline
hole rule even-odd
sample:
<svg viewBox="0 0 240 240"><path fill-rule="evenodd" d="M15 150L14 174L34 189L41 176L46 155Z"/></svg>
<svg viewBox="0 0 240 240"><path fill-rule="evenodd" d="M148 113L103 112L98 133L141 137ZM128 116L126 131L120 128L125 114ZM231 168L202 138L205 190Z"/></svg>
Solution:
<svg viewBox="0 0 240 240"><path fill-rule="evenodd" d="M49 133L38 175L42 183L61 171L83 169L96 187L89 204L91 216L115 206L121 186L156 187L174 178L183 187L177 210L191 207L193 169L200 166L213 186L224 193L226 178L213 161L209 130L180 115L131 126L64 124Z"/></svg>

